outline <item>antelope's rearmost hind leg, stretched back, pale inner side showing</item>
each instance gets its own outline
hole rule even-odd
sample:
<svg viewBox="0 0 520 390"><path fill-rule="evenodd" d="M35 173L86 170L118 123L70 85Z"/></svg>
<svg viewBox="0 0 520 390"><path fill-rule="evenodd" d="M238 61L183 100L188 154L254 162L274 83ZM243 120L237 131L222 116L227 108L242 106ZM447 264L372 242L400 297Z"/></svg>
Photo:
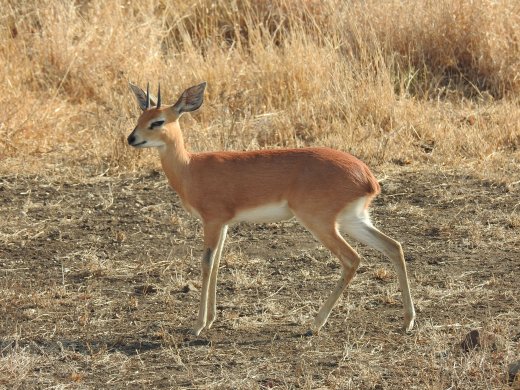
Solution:
<svg viewBox="0 0 520 390"><path fill-rule="evenodd" d="M343 230L352 238L385 254L395 267L399 279L399 288L403 297L404 328L408 332L413 328L415 309L410 294L410 283L401 244L377 230L367 218L345 224Z"/></svg>

